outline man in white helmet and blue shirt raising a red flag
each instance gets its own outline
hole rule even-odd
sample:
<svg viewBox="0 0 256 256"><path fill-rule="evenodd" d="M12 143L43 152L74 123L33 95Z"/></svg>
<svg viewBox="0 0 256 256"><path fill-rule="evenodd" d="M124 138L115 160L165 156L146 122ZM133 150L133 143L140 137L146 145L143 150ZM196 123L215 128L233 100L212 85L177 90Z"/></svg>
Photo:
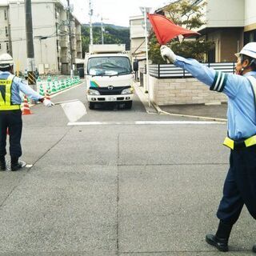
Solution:
<svg viewBox="0 0 256 256"><path fill-rule="evenodd" d="M161 46L161 54L210 86L210 90L228 97L228 137L223 144L231 149L230 169L217 212L218 230L216 234L206 235L206 242L227 251L232 226L244 204L256 219L256 42L246 44L235 54L236 74L224 74L194 59L176 56L167 46ZM253 251L256 253L256 245Z"/></svg>

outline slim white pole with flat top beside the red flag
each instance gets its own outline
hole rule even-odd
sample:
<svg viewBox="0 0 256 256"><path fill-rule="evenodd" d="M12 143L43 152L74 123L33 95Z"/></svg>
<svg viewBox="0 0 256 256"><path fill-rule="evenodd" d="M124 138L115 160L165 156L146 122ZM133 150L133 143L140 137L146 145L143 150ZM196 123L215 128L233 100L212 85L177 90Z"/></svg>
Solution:
<svg viewBox="0 0 256 256"><path fill-rule="evenodd" d="M147 92L148 92L148 101L149 101L149 106L150 104L150 69L149 69L149 52L147 49L148 45L148 38L147 38L147 17L146 14L148 14L151 10L150 7L139 7L139 9L142 11L142 14L144 15L144 31L145 31L145 50L146 50L146 87L147 87Z"/></svg>

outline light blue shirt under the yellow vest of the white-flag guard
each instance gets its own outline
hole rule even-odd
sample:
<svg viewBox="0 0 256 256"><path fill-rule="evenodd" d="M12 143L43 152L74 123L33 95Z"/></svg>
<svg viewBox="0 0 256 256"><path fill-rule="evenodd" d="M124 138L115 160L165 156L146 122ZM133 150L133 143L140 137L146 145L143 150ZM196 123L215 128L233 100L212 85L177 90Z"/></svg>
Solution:
<svg viewBox="0 0 256 256"><path fill-rule="evenodd" d="M7 79L10 76L10 72L0 72L0 80ZM34 91L30 86L27 85L26 81L22 81L21 78L14 77L11 85L11 96L10 101L13 104L22 104L22 98L19 92L22 91L28 98L38 101L42 96Z"/></svg>

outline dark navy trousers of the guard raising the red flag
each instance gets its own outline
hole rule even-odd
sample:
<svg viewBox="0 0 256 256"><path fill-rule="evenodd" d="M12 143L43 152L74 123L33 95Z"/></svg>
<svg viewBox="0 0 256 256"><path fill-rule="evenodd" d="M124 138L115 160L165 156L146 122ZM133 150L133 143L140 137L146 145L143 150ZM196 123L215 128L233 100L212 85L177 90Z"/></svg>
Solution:
<svg viewBox="0 0 256 256"><path fill-rule="evenodd" d="M246 205L256 219L256 146L230 152L230 170L223 187L217 217L234 224Z"/></svg>

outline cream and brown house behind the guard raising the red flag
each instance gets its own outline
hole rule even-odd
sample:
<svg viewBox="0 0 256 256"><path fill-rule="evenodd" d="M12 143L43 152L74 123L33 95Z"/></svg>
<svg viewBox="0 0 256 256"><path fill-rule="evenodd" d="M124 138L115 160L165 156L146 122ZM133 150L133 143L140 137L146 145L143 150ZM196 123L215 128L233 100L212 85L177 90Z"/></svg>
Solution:
<svg viewBox="0 0 256 256"><path fill-rule="evenodd" d="M255 0L194 0L198 6L205 2L202 13L206 24L198 32L214 41L208 61L235 62L234 53L247 42L256 41ZM163 8L157 13L164 14Z"/></svg>

